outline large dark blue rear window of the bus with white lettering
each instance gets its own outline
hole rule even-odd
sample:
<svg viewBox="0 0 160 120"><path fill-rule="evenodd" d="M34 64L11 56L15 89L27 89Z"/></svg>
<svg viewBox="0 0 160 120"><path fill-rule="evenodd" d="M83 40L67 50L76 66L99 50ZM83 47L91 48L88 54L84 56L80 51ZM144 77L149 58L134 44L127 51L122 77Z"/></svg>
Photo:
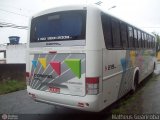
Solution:
<svg viewBox="0 0 160 120"><path fill-rule="evenodd" d="M86 11L56 12L32 19L30 42L85 39Z"/></svg>

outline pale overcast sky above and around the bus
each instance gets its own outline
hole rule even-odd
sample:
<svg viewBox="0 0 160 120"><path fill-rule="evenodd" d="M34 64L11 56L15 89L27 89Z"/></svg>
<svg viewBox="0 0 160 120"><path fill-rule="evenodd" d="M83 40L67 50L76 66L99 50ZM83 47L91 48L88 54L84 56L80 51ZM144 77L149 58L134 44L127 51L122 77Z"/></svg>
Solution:
<svg viewBox="0 0 160 120"><path fill-rule="evenodd" d="M29 18L42 10L73 4L95 4L109 13L148 32L160 34L160 0L0 0L0 23L28 26ZM115 8L112 8L116 6ZM26 29L0 27L0 44L8 43L9 36L19 36L27 42Z"/></svg>

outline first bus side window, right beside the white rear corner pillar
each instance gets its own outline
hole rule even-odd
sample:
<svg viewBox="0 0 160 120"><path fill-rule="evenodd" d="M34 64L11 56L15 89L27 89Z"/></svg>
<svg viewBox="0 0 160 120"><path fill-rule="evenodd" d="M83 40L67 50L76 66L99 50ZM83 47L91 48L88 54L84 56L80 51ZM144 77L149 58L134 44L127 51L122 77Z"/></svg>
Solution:
<svg viewBox="0 0 160 120"><path fill-rule="evenodd" d="M102 19L102 28L103 28L105 45L107 48L112 48L110 17L108 15L102 14L101 19Z"/></svg>

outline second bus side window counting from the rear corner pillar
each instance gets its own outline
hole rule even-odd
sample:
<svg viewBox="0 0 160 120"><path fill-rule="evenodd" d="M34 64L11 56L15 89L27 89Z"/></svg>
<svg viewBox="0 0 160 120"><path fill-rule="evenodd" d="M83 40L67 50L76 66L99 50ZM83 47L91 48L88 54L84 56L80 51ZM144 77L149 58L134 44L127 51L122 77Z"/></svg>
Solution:
<svg viewBox="0 0 160 120"><path fill-rule="evenodd" d="M122 48L120 41L119 21L112 18L111 25L112 25L113 48Z"/></svg>

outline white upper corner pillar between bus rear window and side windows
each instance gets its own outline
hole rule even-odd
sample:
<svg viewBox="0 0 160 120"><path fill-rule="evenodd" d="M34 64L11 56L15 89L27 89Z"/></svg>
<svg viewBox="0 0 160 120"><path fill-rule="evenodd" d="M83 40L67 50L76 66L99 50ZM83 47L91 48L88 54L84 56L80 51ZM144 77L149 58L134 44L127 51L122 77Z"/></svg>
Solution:
<svg viewBox="0 0 160 120"><path fill-rule="evenodd" d="M94 16L94 19L93 19ZM95 7L87 7L87 24L86 24L86 49L100 50L105 48L101 12Z"/></svg>

